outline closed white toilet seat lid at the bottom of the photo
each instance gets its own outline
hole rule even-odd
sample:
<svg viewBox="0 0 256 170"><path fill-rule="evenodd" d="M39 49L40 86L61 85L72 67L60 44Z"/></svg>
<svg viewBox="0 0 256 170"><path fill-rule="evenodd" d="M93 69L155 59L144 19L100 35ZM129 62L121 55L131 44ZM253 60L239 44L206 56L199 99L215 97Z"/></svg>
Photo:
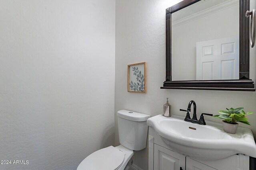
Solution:
<svg viewBox="0 0 256 170"><path fill-rule="evenodd" d="M87 156L77 170L117 170L124 162L124 155L113 146L106 147Z"/></svg>

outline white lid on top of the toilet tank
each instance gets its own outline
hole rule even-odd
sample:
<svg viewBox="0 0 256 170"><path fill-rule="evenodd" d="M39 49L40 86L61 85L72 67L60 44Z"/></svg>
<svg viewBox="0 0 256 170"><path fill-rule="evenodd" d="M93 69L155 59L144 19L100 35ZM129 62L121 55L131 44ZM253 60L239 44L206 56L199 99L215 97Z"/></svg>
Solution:
<svg viewBox="0 0 256 170"><path fill-rule="evenodd" d="M131 121L146 121L150 118L150 115L129 110L119 110L117 111L117 116Z"/></svg>

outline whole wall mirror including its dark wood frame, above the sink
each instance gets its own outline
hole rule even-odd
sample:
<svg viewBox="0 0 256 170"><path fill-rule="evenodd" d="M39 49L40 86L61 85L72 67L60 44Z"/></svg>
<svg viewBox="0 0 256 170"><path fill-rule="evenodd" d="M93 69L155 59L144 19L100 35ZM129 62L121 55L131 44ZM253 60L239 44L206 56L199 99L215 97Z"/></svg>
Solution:
<svg viewBox="0 0 256 170"><path fill-rule="evenodd" d="M249 0L183 0L166 9L161 88L255 91L249 79Z"/></svg>

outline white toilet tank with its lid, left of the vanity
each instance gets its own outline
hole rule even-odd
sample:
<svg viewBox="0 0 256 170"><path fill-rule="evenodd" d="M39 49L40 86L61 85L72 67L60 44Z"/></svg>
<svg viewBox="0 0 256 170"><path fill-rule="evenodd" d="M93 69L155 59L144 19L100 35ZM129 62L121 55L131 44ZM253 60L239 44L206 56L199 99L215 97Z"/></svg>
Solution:
<svg viewBox="0 0 256 170"><path fill-rule="evenodd" d="M119 110L117 116L120 144L131 150L146 148L148 135L147 119L150 118L150 115Z"/></svg>

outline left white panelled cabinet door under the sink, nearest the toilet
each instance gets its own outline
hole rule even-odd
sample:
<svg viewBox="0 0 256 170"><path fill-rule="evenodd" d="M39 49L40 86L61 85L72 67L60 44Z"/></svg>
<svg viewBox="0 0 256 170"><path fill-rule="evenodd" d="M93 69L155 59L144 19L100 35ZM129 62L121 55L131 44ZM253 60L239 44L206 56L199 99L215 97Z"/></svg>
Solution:
<svg viewBox="0 0 256 170"><path fill-rule="evenodd" d="M154 170L185 170L186 156L154 144Z"/></svg>

